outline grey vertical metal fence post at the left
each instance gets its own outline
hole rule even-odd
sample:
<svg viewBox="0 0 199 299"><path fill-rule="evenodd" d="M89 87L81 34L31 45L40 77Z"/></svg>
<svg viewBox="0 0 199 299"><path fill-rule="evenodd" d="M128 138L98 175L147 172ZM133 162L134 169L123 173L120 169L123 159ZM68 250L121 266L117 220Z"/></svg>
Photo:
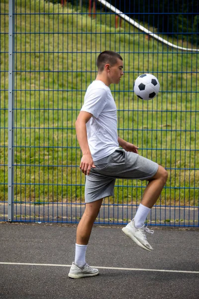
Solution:
<svg viewBox="0 0 199 299"><path fill-rule="evenodd" d="M8 221L13 220L13 104L14 104L14 0L9 0L9 61L8 61Z"/></svg>

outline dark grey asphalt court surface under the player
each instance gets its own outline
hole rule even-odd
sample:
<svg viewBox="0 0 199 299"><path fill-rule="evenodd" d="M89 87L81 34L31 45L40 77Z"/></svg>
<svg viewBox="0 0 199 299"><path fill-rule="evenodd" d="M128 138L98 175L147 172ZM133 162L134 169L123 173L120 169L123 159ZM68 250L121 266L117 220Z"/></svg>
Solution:
<svg viewBox="0 0 199 299"><path fill-rule="evenodd" d="M86 260L96 277L68 278L76 225L0 223L2 299L199 299L199 229L150 227L152 252L122 226L94 226Z"/></svg>

